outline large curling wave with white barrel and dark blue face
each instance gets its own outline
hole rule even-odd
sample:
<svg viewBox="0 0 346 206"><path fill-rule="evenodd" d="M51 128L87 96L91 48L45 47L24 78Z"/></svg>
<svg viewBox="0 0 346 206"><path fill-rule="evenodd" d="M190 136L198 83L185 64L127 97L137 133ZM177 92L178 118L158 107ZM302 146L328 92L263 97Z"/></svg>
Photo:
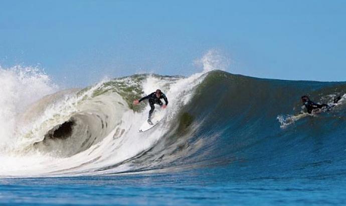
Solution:
<svg viewBox="0 0 346 206"><path fill-rule="evenodd" d="M158 127L139 133L149 109L147 104L134 107L131 102L156 88L169 100L165 117ZM301 112L299 98L307 94L328 102L345 90L345 82L260 79L219 70L190 77L136 74L63 90L26 107L16 115L17 127L2 134L6 144L0 176L214 166L245 175L266 165L293 174L316 162L335 160L333 165L340 165L344 160L336 160L342 154L328 152L346 146L344 100L333 111L312 117ZM288 122L291 116L299 118ZM15 136L16 141L6 136ZM315 146L315 141L322 146ZM325 155L317 155L316 147ZM299 159L301 155L306 158Z"/></svg>

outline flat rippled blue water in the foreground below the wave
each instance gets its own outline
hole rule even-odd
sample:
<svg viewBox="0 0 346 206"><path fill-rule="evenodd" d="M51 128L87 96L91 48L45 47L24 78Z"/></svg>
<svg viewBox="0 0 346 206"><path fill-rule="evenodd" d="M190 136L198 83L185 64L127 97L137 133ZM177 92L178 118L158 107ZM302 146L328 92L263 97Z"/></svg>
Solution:
<svg viewBox="0 0 346 206"><path fill-rule="evenodd" d="M226 171L2 179L2 205L343 205L343 178L230 179Z"/></svg>

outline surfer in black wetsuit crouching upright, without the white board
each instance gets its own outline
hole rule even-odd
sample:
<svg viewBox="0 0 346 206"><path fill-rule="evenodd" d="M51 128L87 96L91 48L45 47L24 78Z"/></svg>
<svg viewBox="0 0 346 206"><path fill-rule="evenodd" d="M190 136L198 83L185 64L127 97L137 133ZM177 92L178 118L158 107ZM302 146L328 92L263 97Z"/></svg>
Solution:
<svg viewBox="0 0 346 206"><path fill-rule="evenodd" d="M163 105L162 101L160 100L161 98L164 99L165 105ZM157 105L161 106L161 108L165 109L168 105L167 97L164 93L162 93L162 91L160 89L156 89L156 91L152 92L151 94L144 96L139 100L138 99L134 100L133 105L138 105L139 102L141 102L144 99L148 99L148 103L149 103L149 106L151 108L149 111L148 123L150 125L153 125L151 122L151 115L152 115L152 112L155 110L154 104L157 104Z"/></svg>

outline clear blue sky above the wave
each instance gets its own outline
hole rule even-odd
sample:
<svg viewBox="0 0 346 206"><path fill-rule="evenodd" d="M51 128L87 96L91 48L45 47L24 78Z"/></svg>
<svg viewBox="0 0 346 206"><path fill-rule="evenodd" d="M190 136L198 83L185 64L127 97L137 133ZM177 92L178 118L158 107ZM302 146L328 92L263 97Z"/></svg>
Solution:
<svg viewBox="0 0 346 206"><path fill-rule="evenodd" d="M71 86L189 75L210 49L231 73L344 81L346 1L0 1L0 65Z"/></svg>

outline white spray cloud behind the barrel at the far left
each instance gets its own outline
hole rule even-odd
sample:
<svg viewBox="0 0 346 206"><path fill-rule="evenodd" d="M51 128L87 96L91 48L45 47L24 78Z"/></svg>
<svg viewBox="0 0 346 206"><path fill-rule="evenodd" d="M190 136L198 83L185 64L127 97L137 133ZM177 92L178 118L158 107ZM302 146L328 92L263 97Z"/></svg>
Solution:
<svg viewBox="0 0 346 206"><path fill-rule="evenodd" d="M58 87L37 67L14 66L0 67L0 88L0 147L3 147L17 138L18 115Z"/></svg>

